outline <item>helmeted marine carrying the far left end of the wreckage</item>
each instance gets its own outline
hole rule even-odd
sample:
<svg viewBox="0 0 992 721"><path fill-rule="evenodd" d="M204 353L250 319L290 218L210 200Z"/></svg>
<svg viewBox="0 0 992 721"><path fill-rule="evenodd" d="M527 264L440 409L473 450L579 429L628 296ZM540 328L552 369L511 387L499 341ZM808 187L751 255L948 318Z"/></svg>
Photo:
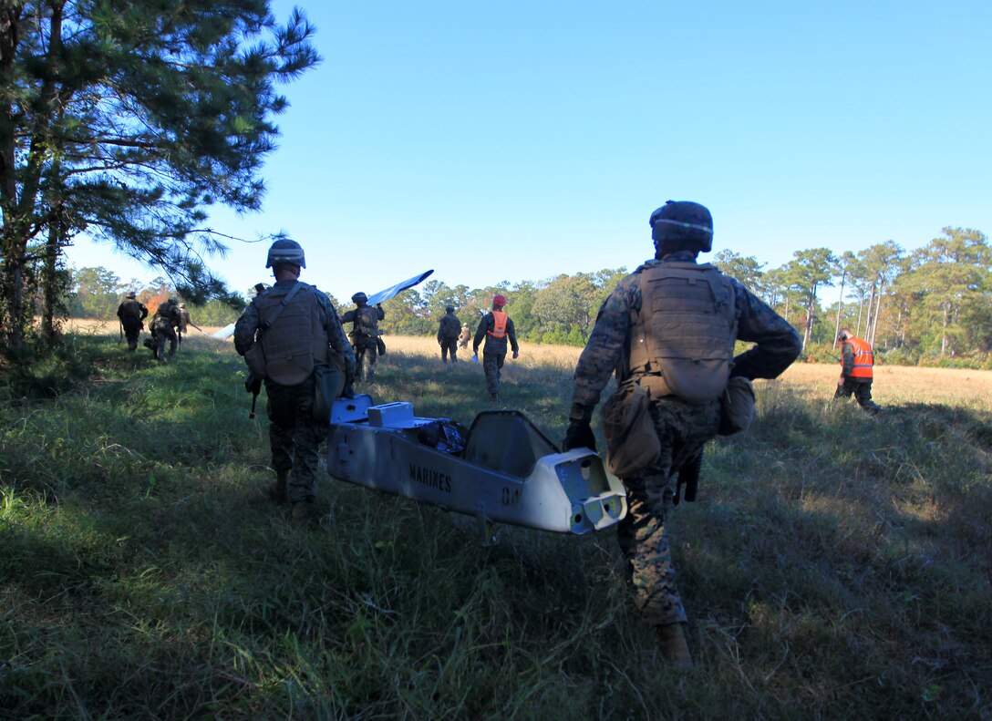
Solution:
<svg viewBox="0 0 992 721"><path fill-rule="evenodd" d="M245 357L252 376L265 382L276 471L269 497L292 503L294 522L308 522L328 427L317 407L329 408L335 397L352 395L355 357L330 300L300 281L300 269L307 267L300 244L277 240L265 267L272 268L276 284L260 292L238 318L234 349Z"/></svg>

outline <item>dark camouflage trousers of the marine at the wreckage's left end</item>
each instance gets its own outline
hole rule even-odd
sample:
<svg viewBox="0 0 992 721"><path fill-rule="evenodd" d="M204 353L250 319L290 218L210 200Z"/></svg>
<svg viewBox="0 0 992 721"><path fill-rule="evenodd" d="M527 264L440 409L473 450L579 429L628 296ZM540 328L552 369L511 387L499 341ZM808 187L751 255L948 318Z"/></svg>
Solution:
<svg viewBox="0 0 992 721"><path fill-rule="evenodd" d="M299 386L265 381L272 467L290 472L286 495L291 503L313 500L320 443L327 437L326 424L312 418L313 390L313 376Z"/></svg>

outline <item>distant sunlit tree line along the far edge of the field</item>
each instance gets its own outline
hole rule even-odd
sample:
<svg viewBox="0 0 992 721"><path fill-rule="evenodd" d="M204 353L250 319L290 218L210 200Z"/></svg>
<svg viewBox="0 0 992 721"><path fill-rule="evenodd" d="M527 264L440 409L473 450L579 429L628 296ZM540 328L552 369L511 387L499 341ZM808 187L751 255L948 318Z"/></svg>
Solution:
<svg viewBox="0 0 992 721"><path fill-rule="evenodd" d="M847 327L871 342L883 362L992 367L992 248L983 233L945 227L911 253L889 240L857 253L813 248L793 255L767 270L754 256L730 250L715 253L712 262L789 320L803 336L807 356L828 353L837 330ZM582 346L600 304L627 273L626 268L605 269L476 289L432 279L386 300L380 327L388 334L433 335L444 307L452 305L474 332L493 296L500 294L507 298L521 340ZM125 290L132 288L133 282L122 284L106 269L84 268L72 276L66 306L73 314L112 318ZM838 290L839 300L824 304L830 288ZM159 278L141 290L139 299L176 293ZM242 300L250 300L249 295ZM332 296L331 301L342 313L351 307ZM225 325L238 315L220 300L191 309L197 324Z"/></svg>

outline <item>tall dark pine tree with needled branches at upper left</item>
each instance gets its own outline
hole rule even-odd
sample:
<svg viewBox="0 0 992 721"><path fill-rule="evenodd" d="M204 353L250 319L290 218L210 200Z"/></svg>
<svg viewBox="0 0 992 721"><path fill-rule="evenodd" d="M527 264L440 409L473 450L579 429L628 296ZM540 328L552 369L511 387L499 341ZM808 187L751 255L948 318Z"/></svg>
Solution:
<svg viewBox="0 0 992 721"><path fill-rule="evenodd" d="M276 25L268 0L0 4L8 347L25 339L33 288L53 282L83 229L161 268L187 298L240 301L206 268L225 248L201 227L205 208L260 206L273 117L287 107L274 84L318 60L311 33L297 11Z"/></svg>

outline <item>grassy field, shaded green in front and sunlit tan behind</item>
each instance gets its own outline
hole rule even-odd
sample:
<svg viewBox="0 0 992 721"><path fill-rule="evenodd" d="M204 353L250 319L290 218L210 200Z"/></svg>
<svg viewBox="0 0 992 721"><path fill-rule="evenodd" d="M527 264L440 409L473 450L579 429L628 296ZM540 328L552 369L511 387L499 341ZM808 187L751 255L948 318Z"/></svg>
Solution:
<svg viewBox="0 0 992 721"><path fill-rule="evenodd" d="M329 476L291 524L264 392L250 420L233 345L192 333L160 365L76 325L0 372L2 719L992 719L992 372L880 367L877 418L835 365L757 382L673 514L678 672L613 530L482 545ZM377 403L492 408L463 351L385 340ZM560 439L578 352L523 345L501 406Z"/></svg>

